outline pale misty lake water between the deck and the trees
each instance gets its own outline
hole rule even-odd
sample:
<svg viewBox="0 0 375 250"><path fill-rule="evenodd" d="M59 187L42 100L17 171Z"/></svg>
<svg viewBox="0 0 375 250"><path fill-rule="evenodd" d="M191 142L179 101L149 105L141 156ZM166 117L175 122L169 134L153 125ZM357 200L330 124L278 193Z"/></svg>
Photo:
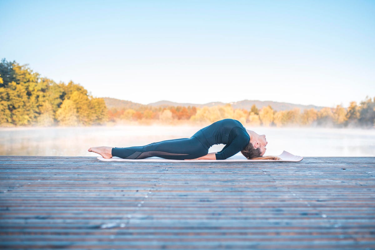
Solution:
<svg viewBox="0 0 375 250"><path fill-rule="evenodd" d="M131 147L189 138L204 126L46 127L0 129L0 154L98 156L92 146ZM266 155L283 150L300 156L375 156L375 130L246 127L267 136ZM221 150L214 145L210 152Z"/></svg>

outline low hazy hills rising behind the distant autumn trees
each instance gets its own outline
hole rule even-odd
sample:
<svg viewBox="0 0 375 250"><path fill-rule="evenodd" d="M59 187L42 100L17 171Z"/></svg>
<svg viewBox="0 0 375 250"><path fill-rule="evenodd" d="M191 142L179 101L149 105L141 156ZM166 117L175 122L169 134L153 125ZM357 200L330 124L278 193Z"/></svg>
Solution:
<svg viewBox="0 0 375 250"><path fill-rule="evenodd" d="M162 100L159 102L153 102L153 103L148 103L147 105L143 105L140 103L135 103L135 102L130 102L130 101L125 101L125 100L118 100L114 98L108 98L104 97L105 104L107 105L108 108L139 108L142 106L153 106L153 107L167 107L167 106L196 106L196 107L212 107L212 106L218 106L218 105L225 105L226 103L223 102L208 102L205 104L195 104L195 103L177 103L177 102L170 102L166 100ZM276 111L282 111L282 110L290 110L294 108L299 108L301 111L303 109L311 109L314 108L316 110L320 110L324 107L321 106L315 106L315 105L300 105L300 104L293 104L293 103L286 103L286 102L272 102L272 101L258 101L258 100L242 100L239 102L230 102L229 104L232 105L233 108L237 109L247 109L250 110L251 106L255 104L258 109L263 108L264 106L270 105L274 110Z"/></svg>

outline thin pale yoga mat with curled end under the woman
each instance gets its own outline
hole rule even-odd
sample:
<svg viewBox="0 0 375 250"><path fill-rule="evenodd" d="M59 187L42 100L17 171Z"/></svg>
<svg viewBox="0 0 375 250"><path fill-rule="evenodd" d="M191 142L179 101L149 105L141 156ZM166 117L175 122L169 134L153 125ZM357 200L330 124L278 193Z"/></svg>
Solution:
<svg viewBox="0 0 375 250"><path fill-rule="evenodd" d="M100 162L300 162L302 161L302 156L295 156L287 151L283 151L278 157L281 160L248 160L245 156L232 156L225 160L169 160L159 157L150 157L146 159L132 160L132 159L122 159L119 157L112 157L110 159L105 159L101 156L97 157Z"/></svg>

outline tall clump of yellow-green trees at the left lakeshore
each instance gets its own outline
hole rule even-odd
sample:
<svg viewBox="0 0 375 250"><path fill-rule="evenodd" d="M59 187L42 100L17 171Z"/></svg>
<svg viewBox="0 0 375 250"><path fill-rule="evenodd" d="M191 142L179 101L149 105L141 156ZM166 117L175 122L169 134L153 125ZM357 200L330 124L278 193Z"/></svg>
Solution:
<svg viewBox="0 0 375 250"><path fill-rule="evenodd" d="M104 99L94 98L79 84L56 83L27 65L0 63L1 126L90 126L107 121Z"/></svg>

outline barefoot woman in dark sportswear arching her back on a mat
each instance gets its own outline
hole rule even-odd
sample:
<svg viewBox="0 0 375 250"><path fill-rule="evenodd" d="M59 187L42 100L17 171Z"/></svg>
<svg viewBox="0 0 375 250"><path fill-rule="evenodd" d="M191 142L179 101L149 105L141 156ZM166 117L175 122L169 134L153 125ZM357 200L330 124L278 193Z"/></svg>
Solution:
<svg viewBox="0 0 375 250"><path fill-rule="evenodd" d="M208 149L214 144L226 145L221 151L208 154ZM274 156L260 157L266 152L267 144L265 135L245 129L237 120L224 119L204 127L190 138L153 142L139 147L91 147L89 152L107 159L113 156L123 159L156 156L172 160L224 160L241 151L247 159L277 159Z"/></svg>

